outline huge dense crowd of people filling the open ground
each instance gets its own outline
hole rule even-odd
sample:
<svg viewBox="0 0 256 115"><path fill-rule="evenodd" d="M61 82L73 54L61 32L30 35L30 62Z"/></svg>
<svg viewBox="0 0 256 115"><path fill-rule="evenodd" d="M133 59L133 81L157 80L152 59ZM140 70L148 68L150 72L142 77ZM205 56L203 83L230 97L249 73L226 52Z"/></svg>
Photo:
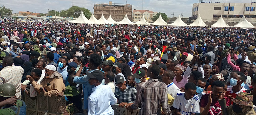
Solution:
<svg viewBox="0 0 256 115"><path fill-rule="evenodd" d="M63 115L113 115L116 103L140 115L256 115L254 28L2 21L0 29L0 115L26 113L22 95L39 93L65 96Z"/></svg>

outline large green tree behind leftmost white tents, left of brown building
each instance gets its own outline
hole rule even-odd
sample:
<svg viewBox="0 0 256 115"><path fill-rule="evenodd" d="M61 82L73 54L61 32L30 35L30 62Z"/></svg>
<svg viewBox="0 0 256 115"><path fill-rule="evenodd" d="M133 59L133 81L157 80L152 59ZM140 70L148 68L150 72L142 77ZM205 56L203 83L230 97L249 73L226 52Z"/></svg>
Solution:
<svg viewBox="0 0 256 115"><path fill-rule="evenodd" d="M67 10L66 17L79 17L81 10L84 13L84 16L89 19L91 17L91 12L88 9L85 9L84 7L78 7L78 6L72 6Z"/></svg>

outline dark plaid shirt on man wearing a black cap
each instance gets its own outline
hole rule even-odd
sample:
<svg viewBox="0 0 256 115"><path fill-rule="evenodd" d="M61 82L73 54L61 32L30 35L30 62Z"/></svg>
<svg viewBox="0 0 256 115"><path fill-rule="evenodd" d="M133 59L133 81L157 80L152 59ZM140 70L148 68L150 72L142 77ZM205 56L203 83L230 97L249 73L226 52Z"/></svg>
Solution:
<svg viewBox="0 0 256 115"><path fill-rule="evenodd" d="M134 101L136 100L136 89L128 86L127 84L125 85L126 89L124 90L124 92L120 91L118 87L116 87L115 89L117 103L134 103Z"/></svg>

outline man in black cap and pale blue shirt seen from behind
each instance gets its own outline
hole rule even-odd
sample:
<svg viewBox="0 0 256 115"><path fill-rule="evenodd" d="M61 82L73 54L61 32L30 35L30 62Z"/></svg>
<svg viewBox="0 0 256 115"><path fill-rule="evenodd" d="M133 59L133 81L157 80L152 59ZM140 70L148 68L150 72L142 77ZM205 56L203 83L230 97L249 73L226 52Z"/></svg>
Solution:
<svg viewBox="0 0 256 115"><path fill-rule="evenodd" d="M89 77L89 84L94 85L88 98L88 115L113 115L114 110L111 105L115 105L117 98L108 85L102 85L104 75L100 70L86 73Z"/></svg>

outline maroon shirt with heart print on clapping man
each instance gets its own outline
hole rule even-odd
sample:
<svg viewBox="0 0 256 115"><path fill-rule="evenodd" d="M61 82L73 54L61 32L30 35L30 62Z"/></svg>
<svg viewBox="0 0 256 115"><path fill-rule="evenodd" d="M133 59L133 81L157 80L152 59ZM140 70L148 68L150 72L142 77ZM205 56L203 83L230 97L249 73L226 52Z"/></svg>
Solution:
<svg viewBox="0 0 256 115"><path fill-rule="evenodd" d="M200 107L205 108L205 106L208 103L208 95L209 94L205 94L202 95L201 100L200 100ZM226 99L226 106L230 106L231 105L231 100L227 97L224 97ZM219 105L218 100L213 100L212 99L212 103L210 105L210 109L207 115L221 115L221 105Z"/></svg>

